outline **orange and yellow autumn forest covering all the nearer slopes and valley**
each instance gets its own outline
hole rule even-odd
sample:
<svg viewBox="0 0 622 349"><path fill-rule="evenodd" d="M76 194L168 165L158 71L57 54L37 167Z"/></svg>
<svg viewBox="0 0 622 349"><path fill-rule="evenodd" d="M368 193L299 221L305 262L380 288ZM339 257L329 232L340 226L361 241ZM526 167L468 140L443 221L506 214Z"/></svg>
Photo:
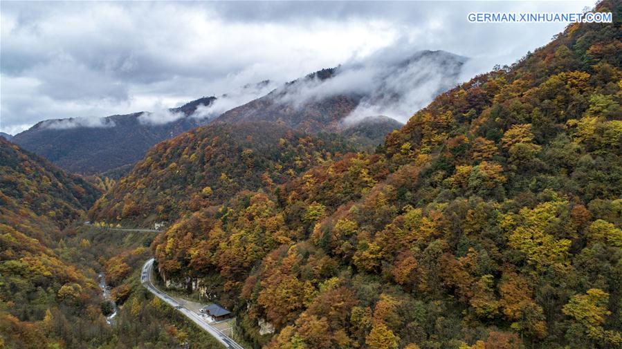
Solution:
<svg viewBox="0 0 622 349"><path fill-rule="evenodd" d="M216 294L244 348L622 348L622 3L596 10L614 23L572 23L403 126L230 113L114 177L0 138L0 348L223 348L140 284L152 256L171 292Z"/></svg>

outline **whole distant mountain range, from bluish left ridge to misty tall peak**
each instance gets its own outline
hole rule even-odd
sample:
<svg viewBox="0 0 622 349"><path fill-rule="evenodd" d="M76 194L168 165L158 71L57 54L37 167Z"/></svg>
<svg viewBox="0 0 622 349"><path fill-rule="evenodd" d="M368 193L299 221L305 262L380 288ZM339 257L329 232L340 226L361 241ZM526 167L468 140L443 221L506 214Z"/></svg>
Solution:
<svg viewBox="0 0 622 349"><path fill-rule="evenodd" d="M277 122L305 133L338 133L347 124L383 112L405 117L454 86L464 62L466 58L443 51L358 62L319 70L257 99L253 98L270 91L273 82L249 84L218 99L203 97L169 111L46 120L15 135L12 142L74 173L123 173L154 144L214 118L230 123ZM199 110L201 106L206 108ZM379 143L380 138L364 134L353 138L361 149Z"/></svg>

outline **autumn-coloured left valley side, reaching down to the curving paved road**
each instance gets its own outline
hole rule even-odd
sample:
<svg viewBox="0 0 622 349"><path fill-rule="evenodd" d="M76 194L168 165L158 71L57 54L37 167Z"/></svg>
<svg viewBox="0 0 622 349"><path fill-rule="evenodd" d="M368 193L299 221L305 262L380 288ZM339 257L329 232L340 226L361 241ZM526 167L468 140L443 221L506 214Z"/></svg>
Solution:
<svg viewBox="0 0 622 349"><path fill-rule="evenodd" d="M100 193L15 144L0 140L0 164L0 348L219 348L145 299L131 271L149 258L153 234L75 224ZM115 326L104 317L101 271L118 286Z"/></svg>

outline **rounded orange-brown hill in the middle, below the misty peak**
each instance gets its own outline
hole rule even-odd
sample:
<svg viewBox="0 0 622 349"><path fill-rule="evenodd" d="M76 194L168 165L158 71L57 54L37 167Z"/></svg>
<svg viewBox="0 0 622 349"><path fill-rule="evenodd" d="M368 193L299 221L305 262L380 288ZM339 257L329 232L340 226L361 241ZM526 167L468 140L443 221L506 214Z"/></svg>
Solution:
<svg viewBox="0 0 622 349"><path fill-rule="evenodd" d="M212 123L157 144L95 203L91 217L172 222L240 190L271 189L351 149L334 135L311 137L269 122Z"/></svg>

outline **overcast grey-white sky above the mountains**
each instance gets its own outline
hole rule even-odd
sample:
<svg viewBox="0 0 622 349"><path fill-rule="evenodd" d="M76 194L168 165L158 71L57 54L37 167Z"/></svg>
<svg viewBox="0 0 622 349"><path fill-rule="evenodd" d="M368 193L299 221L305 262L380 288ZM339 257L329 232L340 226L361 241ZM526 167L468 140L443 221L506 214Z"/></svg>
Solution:
<svg viewBox="0 0 622 349"><path fill-rule="evenodd" d="M378 51L470 57L468 79L565 27L468 23L469 12L580 12L594 3L1 1L0 131L179 106Z"/></svg>

